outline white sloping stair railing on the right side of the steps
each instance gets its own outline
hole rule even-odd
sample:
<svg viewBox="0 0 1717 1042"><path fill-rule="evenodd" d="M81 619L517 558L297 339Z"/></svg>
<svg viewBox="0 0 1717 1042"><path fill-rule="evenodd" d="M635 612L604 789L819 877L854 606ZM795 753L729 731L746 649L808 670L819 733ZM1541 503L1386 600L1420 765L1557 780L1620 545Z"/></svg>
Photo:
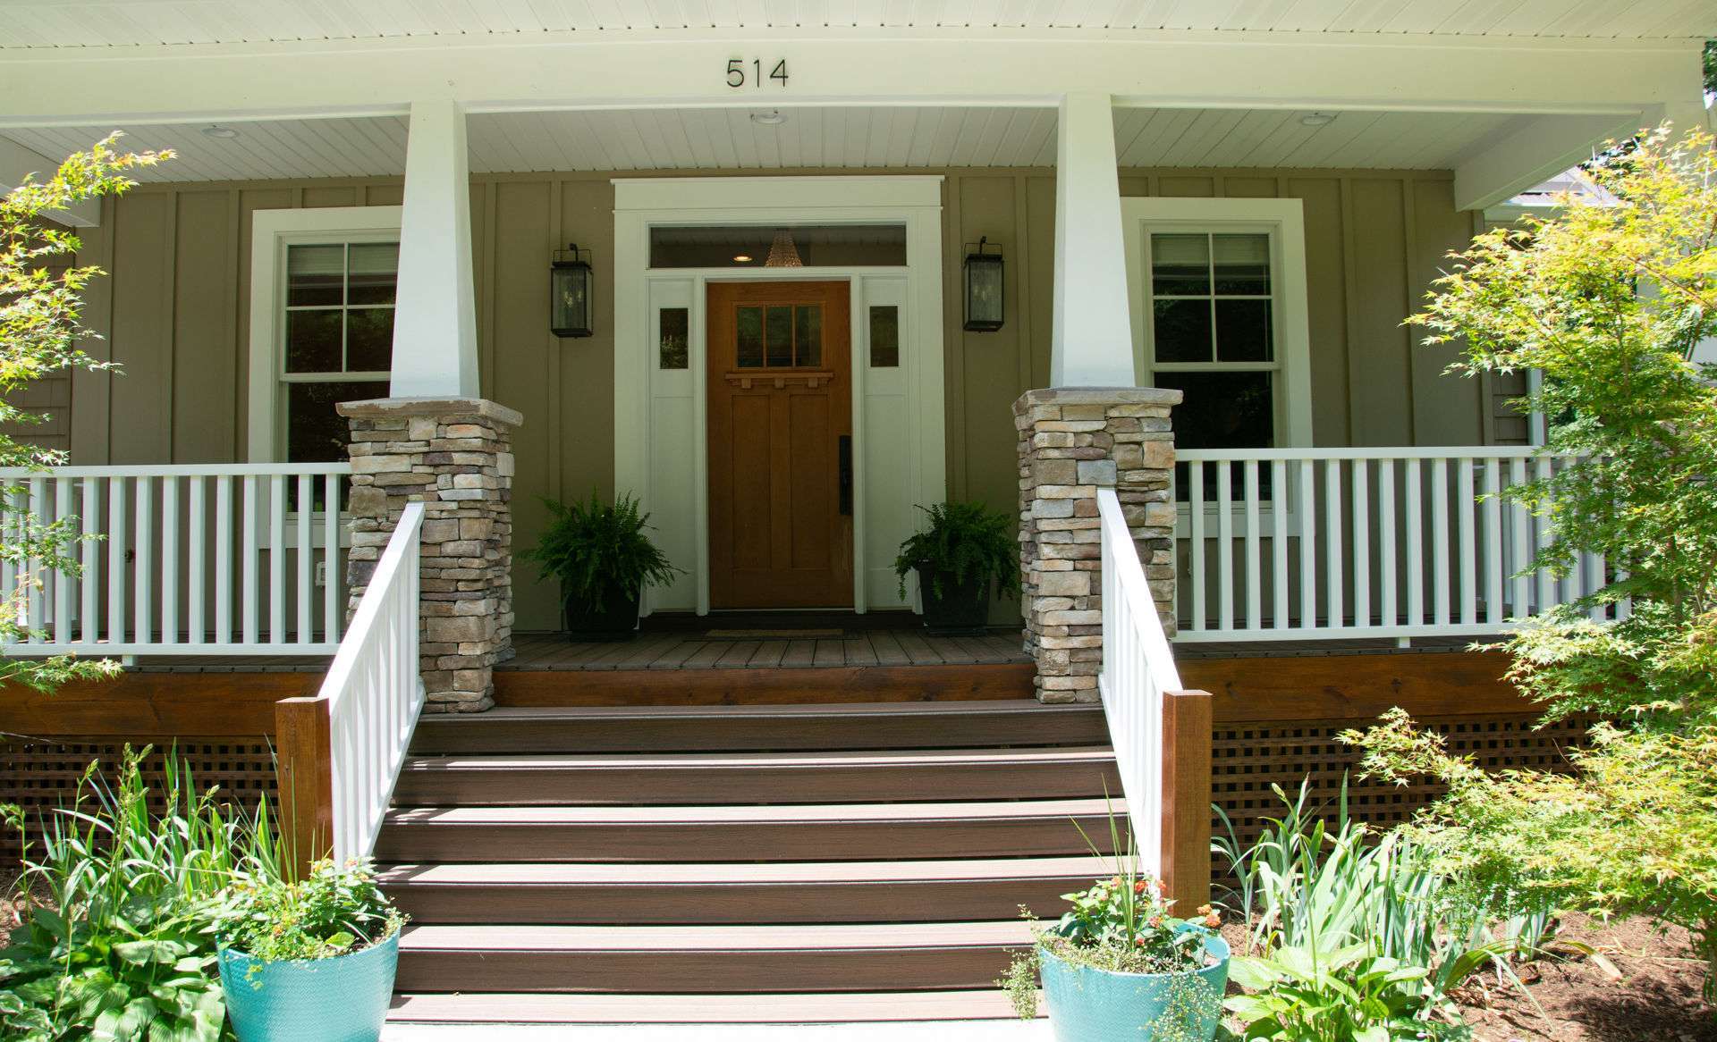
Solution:
<svg viewBox="0 0 1717 1042"><path fill-rule="evenodd" d="M1102 522L1102 673L1097 690L1140 869L1161 879L1168 810L1164 697L1180 692L1180 671L1114 489L1097 489L1097 515Z"/></svg>

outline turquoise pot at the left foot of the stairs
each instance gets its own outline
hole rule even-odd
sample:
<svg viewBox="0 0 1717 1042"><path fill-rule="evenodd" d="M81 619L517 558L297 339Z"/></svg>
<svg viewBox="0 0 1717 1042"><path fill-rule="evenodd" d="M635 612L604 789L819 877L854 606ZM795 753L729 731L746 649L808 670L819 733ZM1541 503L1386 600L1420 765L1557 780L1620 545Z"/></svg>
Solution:
<svg viewBox="0 0 1717 1042"><path fill-rule="evenodd" d="M376 1042L398 963L398 932L330 960L264 963L221 948L227 1016L239 1042Z"/></svg>

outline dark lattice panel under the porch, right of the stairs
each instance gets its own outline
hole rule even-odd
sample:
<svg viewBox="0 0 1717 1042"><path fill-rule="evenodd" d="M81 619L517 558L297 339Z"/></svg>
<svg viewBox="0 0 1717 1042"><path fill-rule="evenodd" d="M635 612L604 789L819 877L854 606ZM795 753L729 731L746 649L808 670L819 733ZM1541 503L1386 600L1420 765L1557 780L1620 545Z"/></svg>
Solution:
<svg viewBox="0 0 1717 1042"><path fill-rule="evenodd" d="M1568 766L1568 748L1585 742L1588 719L1566 719L1533 730L1537 714L1490 718L1429 718L1422 726L1447 736L1449 750L1471 755L1490 771L1506 767L1559 769ZM1283 802L1271 791L1279 785L1295 797L1300 779L1312 778L1314 805L1334 815L1341 779L1348 774L1348 814L1387 827L1442 795L1434 785L1392 786L1360 781L1358 752L1336 740L1348 728L1363 730L1370 721L1320 719L1219 726L1210 747L1210 798L1228 812L1241 845L1259 838L1262 819L1281 817ZM1219 819L1210 822L1223 834ZM1217 858L1221 860L1221 858ZM1226 865L1212 865L1217 875Z"/></svg>

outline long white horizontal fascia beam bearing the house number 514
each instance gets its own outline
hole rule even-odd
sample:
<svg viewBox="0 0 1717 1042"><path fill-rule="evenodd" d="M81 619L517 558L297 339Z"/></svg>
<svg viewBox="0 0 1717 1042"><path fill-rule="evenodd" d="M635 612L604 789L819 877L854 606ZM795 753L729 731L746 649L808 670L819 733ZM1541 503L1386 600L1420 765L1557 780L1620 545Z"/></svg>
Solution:
<svg viewBox="0 0 1717 1042"><path fill-rule="evenodd" d="M730 60L786 86L726 86ZM1604 76L1593 76L1602 69ZM1695 41L1010 29L386 38L9 51L5 125L634 106L1059 105L1633 113L1698 82Z"/></svg>

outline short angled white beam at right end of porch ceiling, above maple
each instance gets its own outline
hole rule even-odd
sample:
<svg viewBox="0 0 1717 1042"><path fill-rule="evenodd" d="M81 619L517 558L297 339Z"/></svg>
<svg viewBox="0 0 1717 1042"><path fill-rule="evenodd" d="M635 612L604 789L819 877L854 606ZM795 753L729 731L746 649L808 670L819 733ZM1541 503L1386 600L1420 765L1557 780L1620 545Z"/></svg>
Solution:
<svg viewBox="0 0 1717 1042"><path fill-rule="evenodd" d="M1478 151L1454 167L1456 209L1483 209L1544 184L1574 163L1592 158L1592 148L1628 136L1652 122L1629 115L1540 115L1502 127Z"/></svg>

